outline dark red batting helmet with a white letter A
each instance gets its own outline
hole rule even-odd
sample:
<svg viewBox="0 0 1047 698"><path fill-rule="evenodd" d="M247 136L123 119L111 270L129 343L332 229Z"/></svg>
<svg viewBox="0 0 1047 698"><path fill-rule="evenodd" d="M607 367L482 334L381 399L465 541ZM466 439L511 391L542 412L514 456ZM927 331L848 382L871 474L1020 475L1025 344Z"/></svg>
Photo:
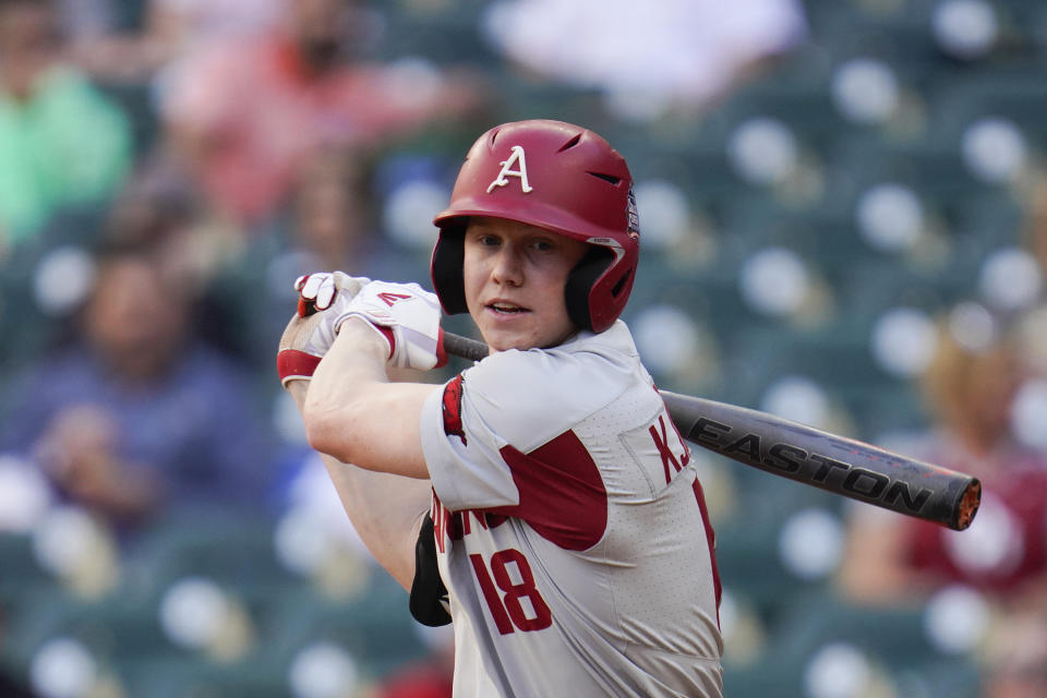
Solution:
<svg viewBox="0 0 1047 698"><path fill-rule="evenodd" d="M593 332L622 314L639 258L633 176L592 131L562 121L517 121L477 140L450 206L433 219L440 227L433 286L448 314L468 311L462 240L469 216L507 218L589 243L567 277L567 313L576 326Z"/></svg>

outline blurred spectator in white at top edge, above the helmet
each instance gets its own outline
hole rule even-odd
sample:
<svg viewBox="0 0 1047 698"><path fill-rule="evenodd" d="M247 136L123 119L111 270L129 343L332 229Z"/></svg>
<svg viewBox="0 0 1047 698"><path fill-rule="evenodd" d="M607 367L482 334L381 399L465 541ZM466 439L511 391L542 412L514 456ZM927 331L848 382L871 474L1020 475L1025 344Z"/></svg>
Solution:
<svg viewBox="0 0 1047 698"><path fill-rule="evenodd" d="M501 0L485 28L517 63L655 117L659 106L708 105L806 34L796 0L741 0L730 12L717 0Z"/></svg>

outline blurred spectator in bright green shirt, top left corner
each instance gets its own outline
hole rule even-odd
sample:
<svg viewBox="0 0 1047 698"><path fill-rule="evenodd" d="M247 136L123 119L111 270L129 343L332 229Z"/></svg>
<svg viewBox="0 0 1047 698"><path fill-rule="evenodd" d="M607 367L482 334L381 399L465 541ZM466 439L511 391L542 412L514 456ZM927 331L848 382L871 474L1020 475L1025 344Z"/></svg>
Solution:
<svg viewBox="0 0 1047 698"><path fill-rule="evenodd" d="M127 119L62 49L51 1L0 0L0 246L104 202L128 172Z"/></svg>

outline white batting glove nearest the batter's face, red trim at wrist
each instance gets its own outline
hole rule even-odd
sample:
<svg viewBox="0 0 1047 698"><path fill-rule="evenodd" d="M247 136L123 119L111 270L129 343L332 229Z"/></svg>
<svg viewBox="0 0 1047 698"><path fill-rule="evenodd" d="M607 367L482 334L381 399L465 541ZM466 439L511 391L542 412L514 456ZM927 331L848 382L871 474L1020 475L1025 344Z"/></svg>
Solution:
<svg viewBox="0 0 1047 698"><path fill-rule="evenodd" d="M428 371L447 363L440 299L418 284L371 281L352 299L345 315L362 317L385 337L390 366Z"/></svg>

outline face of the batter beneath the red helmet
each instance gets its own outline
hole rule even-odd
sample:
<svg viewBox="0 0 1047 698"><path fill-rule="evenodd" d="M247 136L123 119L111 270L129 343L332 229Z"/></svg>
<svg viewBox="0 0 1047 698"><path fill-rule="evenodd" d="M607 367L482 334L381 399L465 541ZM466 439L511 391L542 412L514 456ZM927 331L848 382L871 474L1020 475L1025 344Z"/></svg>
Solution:
<svg viewBox="0 0 1047 698"><path fill-rule="evenodd" d="M514 220L469 220L466 303L492 350L552 347L575 333L564 285L586 250L583 242Z"/></svg>

